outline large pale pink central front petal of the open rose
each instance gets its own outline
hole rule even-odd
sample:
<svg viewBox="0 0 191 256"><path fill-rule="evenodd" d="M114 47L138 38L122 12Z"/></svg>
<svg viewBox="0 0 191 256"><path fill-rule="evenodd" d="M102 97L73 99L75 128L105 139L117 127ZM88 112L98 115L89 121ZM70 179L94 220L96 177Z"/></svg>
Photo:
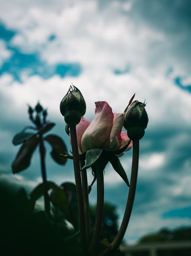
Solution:
<svg viewBox="0 0 191 256"><path fill-rule="evenodd" d="M81 138L83 152L93 148L109 148L113 126L112 108L106 101L95 102L95 106L95 117Z"/></svg>

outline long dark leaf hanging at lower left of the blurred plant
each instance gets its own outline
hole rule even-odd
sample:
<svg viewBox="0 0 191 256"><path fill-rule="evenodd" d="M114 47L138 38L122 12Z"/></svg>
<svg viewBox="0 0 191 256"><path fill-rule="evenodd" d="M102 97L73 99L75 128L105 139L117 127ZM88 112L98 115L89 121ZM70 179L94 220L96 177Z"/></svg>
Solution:
<svg viewBox="0 0 191 256"><path fill-rule="evenodd" d="M32 136L31 139L26 140L26 142L23 143L12 163L13 173L21 172L30 165L32 154L36 149L38 142L39 139L36 136Z"/></svg>

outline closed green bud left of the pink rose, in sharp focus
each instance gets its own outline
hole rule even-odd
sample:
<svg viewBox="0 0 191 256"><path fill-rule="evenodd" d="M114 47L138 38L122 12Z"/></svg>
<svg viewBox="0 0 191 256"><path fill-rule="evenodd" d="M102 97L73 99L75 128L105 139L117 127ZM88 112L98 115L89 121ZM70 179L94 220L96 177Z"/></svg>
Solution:
<svg viewBox="0 0 191 256"><path fill-rule="evenodd" d="M86 112L86 102L81 92L74 86L68 90L66 96L60 102L60 112L64 116L66 124L78 124Z"/></svg>

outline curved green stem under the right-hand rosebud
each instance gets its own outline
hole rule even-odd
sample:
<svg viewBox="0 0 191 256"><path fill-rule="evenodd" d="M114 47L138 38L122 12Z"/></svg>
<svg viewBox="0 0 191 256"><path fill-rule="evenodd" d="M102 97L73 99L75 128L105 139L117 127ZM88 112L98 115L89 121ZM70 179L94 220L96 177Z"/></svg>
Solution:
<svg viewBox="0 0 191 256"><path fill-rule="evenodd" d="M129 194L128 194L128 199L126 203L123 220L122 220L120 229L117 233L117 236L115 237L111 245L107 249L105 249L105 251L102 254L100 254L100 256L112 254L114 251L116 251L117 248L120 246L123 236L125 235L125 231L127 229L129 219L131 216L131 211L133 208L133 201L134 201L134 195L135 195L136 183L137 183L138 164L139 164L139 140L135 139L133 140L133 160L132 160L132 168L131 168L130 188L129 188Z"/></svg>

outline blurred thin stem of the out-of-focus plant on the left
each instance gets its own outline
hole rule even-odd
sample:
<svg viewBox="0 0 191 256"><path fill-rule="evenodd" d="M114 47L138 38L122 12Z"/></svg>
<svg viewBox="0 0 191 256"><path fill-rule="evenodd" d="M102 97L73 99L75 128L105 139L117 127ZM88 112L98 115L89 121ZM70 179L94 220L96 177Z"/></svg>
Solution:
<svg viewBox="0 0 191 256"><path fill-rule="evenodd" d="M47 175L46 175L46 167L45 167L45 147L42 140L42 136L40 136L40 164L41 164L41 173L42 173L42 180L44 185L44 207L45 212L48 216L50 216L50 198L48 194L48 184L47 184Z"/></svg>

